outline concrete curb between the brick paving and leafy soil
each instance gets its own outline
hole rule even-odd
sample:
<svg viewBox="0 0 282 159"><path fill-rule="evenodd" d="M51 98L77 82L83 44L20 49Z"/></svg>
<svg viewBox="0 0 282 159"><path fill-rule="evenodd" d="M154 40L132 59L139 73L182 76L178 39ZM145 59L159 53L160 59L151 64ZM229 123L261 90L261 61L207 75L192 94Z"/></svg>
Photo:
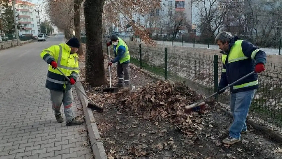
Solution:
<svg viewBox="0 0 282 159"><path fill-rule="evenodd" d="M76 86L85 93L85 90L79 80L79 77L76 82ZM107 155L103 146L103 142L101 140L99 130L97 128L92 110L87 108L88 99L76 88L76 92L78 93L78 97L82 103L83 112L85 115L86 126L91 142L91 147L93 150L94 158L95 159L107 159Z"/></svg>

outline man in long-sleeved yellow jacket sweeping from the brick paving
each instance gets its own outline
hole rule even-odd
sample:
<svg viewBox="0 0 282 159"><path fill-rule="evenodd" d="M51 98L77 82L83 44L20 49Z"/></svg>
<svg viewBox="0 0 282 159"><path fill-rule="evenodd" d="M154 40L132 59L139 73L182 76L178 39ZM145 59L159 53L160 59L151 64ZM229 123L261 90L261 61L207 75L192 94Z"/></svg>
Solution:
<svg viewBox="0 0 282 159"><path fill-rule="evenodd" d="M67 43L43 49L40 54L41 58L49 64L45 87L50 90L52 109L56 120L58 123L63 122L60 112L63 103L67 126L83 123L80 120L75 120L72 113L72 87L79 73L76 53L79 47L78 39L71 38ZM56 69L57 67L69 77L70 81Z"/></svg>

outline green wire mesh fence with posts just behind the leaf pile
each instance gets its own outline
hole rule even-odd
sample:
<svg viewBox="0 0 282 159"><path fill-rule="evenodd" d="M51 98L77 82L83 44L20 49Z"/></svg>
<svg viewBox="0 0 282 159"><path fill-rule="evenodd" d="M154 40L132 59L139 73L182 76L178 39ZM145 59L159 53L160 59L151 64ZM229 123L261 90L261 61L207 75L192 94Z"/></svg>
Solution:
<svg viewBox="0 0 282 159"><path fill-rule="evenodd" d="M106 40L103 47L106 49ZM131 63L158 77L184 82L190 88L208 96L217 90L222 62L218 55L183 51L177 47L150 47L144 43L127 41ZM282 66L266 63L266 71L258 75L259 89L255 92L249 117L260 123L282 130ZM227 89L216 99L229 109L230 91Z"/></svg>

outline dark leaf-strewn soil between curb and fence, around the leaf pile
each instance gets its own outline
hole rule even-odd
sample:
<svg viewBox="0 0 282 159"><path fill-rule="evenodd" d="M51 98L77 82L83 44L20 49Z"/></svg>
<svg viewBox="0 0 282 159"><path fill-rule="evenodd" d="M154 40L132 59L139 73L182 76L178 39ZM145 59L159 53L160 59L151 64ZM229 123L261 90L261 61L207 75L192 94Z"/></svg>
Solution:
<svg viewBox="0 0 282 159"><path fill-rule="evenodd" d="M104 56L106 78L109 79L108 57ZM204 114L190 114L189 117L195 119L192 126L196 126L197 123L201 125L197 132L191 132L190 135L181 132L177 123L167 119L144 119L144 116L137 112L117 104L116 93L101 93L102 87L94 88L85 82L83 56L80 56L80 62L80 80L87 95L105 107L104 112L93 111L93 114L109 159L282 158L282 143L271 140L267 134L262 134L249 125L248 133L242 134L239 143L222 144L221 141L228 136L228 128L233 119L216 105L210 105ZM114 65L111 69L114 84L117 82L115 67ZM136 89L157 82L157 79L147 76L134 65L131 65L130 74L131 83Z"/></svg>

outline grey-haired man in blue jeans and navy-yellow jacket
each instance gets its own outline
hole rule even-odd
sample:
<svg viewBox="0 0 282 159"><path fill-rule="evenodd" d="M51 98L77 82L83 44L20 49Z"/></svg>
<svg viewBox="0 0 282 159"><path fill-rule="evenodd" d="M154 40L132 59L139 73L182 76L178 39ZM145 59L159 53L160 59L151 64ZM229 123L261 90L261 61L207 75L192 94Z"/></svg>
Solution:
<svg viewBox="0 0 282 159"><path fill-rule="evenodd" d="M255 89L259 88L257 73L265 70L266 54L246 40L239 40L233 37L230 32L220 32L215 37L219 45L223 63L221 79L218 86L218 94L228 84L235 82L243 76L252 73L250 76L240 80L230 87L230 110L233 115L233 123L229 129L228 138L222 142L234 144L241 140L241 134L247 132L246 118Z"/></svg>

